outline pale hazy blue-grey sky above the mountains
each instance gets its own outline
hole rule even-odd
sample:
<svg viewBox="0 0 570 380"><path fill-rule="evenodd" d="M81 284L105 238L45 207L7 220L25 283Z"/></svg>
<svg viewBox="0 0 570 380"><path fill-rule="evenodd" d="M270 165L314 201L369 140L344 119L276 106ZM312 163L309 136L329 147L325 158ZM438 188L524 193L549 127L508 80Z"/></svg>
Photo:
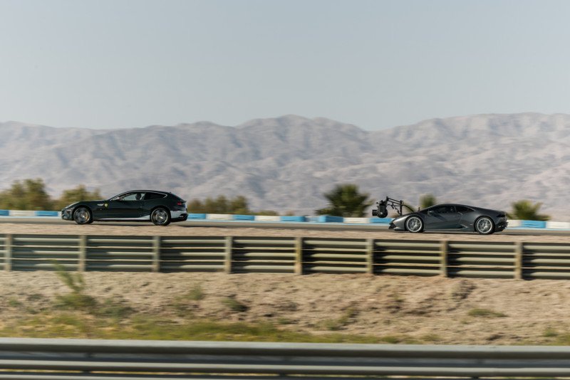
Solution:
<svg viewBox="0 0 570 380"><path fill-rule="evenodd" d="M570 113L570 1L0 0L0 122Z"/></svg>

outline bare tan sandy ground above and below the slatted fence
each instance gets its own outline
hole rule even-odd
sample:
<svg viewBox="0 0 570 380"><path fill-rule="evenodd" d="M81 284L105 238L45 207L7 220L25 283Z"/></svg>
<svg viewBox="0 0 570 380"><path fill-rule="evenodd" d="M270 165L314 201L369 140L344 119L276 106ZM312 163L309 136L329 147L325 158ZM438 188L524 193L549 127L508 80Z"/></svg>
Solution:
<svg viewBox="0 0 570 380"><path fill-rule="evenodd" d="M565 236L444 235L384 231L311 231L186 226L50 226L0 224L0 233L170 236L319 236L461 241L569 241ZM286 329L331 330L395 342L437 344L545 344L570 334L570 281L420 278L371 275L275 275L224 273L85 274L88 293L124 300L139 312L176 318L182 302L196 318L274 322ZM204 299L185 297L195 287ZM26 307L41 309L68 290L50 272L0 272L0 320ZM222 300L248 307L234 312ZM180 310L180 307L178 308ZM474 311L475 310L475 311ZM486 310L479 312L477 310ZM480 315L480 314L487 314Z"/></svg>

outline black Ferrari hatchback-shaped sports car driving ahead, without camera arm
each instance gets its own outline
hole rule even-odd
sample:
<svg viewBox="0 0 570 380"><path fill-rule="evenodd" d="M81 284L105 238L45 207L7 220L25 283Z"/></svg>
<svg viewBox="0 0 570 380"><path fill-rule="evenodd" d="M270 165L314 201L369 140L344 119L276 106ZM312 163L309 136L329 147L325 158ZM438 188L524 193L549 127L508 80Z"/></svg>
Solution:
<svg viewBox="0 0 570 380"><path fill-rule="evenodd" d="M188 218L186 201L166 191L133 190L105 201L81 201L61 210L61 218L89 224L93 221L152 221L157 226Z"/></svg>

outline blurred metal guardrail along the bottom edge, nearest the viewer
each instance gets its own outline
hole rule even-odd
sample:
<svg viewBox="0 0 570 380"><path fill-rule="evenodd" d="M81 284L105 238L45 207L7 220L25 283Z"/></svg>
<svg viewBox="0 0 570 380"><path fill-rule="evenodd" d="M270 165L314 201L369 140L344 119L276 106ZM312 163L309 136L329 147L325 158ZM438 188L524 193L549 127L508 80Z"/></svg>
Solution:
<svg viewBox="0 0 570 380"><path fill-rule="evenodd" d="M0 379L284 379L284 375L345 380L553 378L570 376L570 347L0 339Z"/></svg>

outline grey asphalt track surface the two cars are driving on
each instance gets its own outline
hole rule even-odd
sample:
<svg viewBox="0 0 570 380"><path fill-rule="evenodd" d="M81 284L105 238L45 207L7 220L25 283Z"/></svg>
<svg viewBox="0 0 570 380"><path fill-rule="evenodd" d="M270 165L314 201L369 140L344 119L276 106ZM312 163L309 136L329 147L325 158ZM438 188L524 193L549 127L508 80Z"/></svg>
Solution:
<svg viewBox="0 0 570 380"><path fill-rule="evenodd" d="M0 223L40 223L40 224L73 224L72 221L63 221L60 218L48 217L0 217ZM147 226L148 222L95 222L105 226ZM363 223L316 223L316 222L263 222L263 221L212 221L212 220L192 220L177 222L177 226L188 227L222 227L222 228L284 228L284 229L304 229L304 230L326 230L326 231L387 231L387 224L363 224ZM398 233L398 232L394 232ZM427 232L429 233L429 232ZM441 233L438 231L437 233ZM449 231L446 233L457 234L464 232ZM543 228L507 228L507 230L495 233L495 235L524 235L524 236L570 236L570 230L546 230Z"/></svg>

